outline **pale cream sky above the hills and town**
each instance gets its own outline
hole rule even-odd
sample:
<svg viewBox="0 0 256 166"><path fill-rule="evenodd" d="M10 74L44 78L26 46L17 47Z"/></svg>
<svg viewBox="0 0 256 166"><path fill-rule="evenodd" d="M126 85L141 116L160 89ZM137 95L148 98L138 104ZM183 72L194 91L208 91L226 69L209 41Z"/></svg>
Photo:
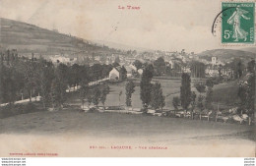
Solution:
<svg viewBox="0 0 256 166"><path fill-rule="evenodd" d="M140 10L118 9L127 5ZM165 51L221 48L211 31L220 11L220 0L0 0L1 18Z"/></svg>

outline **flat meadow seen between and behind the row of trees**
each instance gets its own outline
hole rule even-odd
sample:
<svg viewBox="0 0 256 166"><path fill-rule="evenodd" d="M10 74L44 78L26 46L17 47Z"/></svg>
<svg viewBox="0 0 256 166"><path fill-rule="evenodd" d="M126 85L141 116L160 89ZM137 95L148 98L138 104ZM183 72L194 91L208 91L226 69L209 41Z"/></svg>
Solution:
<svg viewBox="0 0 256 166"><path fill-rule="evenodd" d="M142 108L142 101L140 98L140 79L136 79L134 82L136 83L136 87L135 92L132 94L132 106L133 108ZM174 96L180 95L181 81L178 79L173 80L158 78L153 79L153 83L155 82L160 82L163 95L165 96L165 107L163 109L173 110L174 107L172 105L172 98ZM197 93L197 96L199 96L199 92L197 92L196 88L194 87L195 82L196 81L192 81L191 90L195 91ZM126 82L109 84L110 93L106 97L105 106L125 105L125 83ZM232 82L215 84L213 89L213 101L215 109L217 109L218 102L220 109L228 109L236 106L237 103L239 103L239 98L237 96L237 83ZM119 98L120 91L122 91L122 95ZM201 93L201 95L206 95L206 93ZM78 94L74 94L68 99L68 103L80 106L81 100L78 96ZM99 103L99 106L102 106L102 104Z"/></svg>

